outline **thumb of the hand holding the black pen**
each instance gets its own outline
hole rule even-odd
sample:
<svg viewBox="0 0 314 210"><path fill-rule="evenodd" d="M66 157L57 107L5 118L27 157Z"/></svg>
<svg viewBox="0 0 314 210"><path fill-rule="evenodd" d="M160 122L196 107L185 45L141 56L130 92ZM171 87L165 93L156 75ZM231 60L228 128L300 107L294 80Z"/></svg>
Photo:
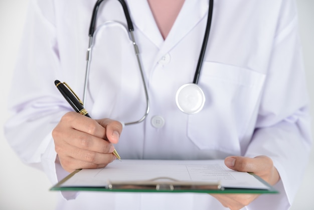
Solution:
<svg viewBox="0 0 314 210"><path fill-rule="evenodd" d="M97 120L97 122L106 129L106 139L113 144L118 143L122 132L122 124L111 119Z"/></svg>

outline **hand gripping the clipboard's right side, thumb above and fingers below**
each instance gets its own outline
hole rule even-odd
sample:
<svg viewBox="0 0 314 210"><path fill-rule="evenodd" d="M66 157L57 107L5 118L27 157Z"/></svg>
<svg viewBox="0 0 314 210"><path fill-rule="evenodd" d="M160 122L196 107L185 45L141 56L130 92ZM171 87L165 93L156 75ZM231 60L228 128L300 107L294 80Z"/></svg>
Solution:
<svg viewBox="0 0 314 210"><path fill-rule="evenodd" d="M272 160L267 156L257 156L255 158L230 156L225 159L225 164L230 169L243 172L253 172L271 185L276 184L279 173L274 167ZM241 209L250 204L258 194L211 194L218 199L223 206L232 210Z"/></svg>

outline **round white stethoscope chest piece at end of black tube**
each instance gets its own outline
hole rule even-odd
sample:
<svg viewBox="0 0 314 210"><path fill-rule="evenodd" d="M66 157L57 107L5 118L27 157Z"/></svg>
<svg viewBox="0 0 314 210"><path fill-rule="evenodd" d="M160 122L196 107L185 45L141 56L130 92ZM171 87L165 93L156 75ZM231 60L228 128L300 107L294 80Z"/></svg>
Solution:
<svg viewBox="0 0 314 210"><path fill-rule="evenodd" d="M184 84L177 91L176 102L182 112L196 114L204 107L205 94L195 83Z"/></svg>

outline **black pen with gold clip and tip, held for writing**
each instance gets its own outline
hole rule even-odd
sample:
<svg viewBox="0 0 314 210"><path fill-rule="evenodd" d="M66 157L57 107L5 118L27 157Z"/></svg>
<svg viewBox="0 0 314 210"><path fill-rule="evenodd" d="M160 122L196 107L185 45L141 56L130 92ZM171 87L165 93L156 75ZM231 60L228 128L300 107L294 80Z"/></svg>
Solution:
<svg viewBox="0 0 314 210"><path fill-rule="evenodd" d="M91 118L88 115L88 112L83 107L83 102L81 101L81 99L75 94L75 92L71 89L71 87L67 83L60 82L59 80L55 80L55 85L57 86L61 94L64 96L64 98L70 103L71 107L77 113ZM121 158L115 149L113 150L112 154L121 161Z"/></svg>

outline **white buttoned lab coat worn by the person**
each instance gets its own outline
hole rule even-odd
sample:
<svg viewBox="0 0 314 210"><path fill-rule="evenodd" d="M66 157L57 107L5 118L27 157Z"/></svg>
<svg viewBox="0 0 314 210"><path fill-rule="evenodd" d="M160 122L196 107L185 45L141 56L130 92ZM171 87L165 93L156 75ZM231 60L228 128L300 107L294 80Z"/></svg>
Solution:
<svg viewBox="0 0 314 210"><path fill-rule="evenodd" d="M6 136L22 160L56 183L51 131L72 111L54 80L82 96L88 29L95 1L32 0L14 74ZM139 119L145 97L118 1L99 9L86 109L95 118ZM145 0L127 1L134 24L150 112L126 126L115 146L122 159L272 158L281 180L277 195L261 195L246 209L287 209L302 179L311 145L297 16L292 0L215 1L199 85L204 109L182 113L177 89L193 81L208 3L186 0L164 41ZM165 124L153 126L154 116ZM58 209L224 209L207 194L64 193Z"/></svg>

